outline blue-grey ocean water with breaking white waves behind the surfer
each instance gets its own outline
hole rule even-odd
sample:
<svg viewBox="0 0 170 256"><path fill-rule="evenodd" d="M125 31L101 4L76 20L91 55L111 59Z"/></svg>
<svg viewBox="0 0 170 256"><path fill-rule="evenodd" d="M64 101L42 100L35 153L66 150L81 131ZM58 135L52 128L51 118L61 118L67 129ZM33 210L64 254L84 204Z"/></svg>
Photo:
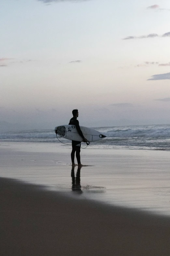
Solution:
<svg viewBox="0 0 170 256"><path fill-rule="evenodd" d="M170 125L141 125L93 127L107 137L92 142L88 148L94 149L149 149L170 150ZM71 145L71 141L59 137L63 143ZM53 129L0 131L0 141L6 142L43 142L61 143ZM86 144L82 144L85 147Z"/></svg>

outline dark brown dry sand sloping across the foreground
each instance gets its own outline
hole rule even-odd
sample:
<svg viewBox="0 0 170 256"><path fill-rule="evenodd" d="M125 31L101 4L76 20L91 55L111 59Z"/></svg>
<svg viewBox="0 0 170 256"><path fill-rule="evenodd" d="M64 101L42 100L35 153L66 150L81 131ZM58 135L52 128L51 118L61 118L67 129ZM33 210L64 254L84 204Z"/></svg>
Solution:
<svg viewBox="0 0 170 256"><path fill-rule="evenodd" d="M169 256L170 218L0 179L1 256Z"/></svg>

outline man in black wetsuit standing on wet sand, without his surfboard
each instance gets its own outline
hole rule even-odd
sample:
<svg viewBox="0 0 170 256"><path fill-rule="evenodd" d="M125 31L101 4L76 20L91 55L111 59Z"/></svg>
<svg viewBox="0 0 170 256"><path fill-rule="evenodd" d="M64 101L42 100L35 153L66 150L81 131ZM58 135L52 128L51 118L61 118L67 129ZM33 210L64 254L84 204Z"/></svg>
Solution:
<svg viewBox="0 0 170 256"><path fill-rule="evenodd" d="M78 117L78 110L74 109L72 111L73 117L70 119L69 125L75 125L79 135L82 137L83 142L87 142L86 138L84 137L80 126L79 126L79 122L77 120ZM81 147L81 141L72 141L72 152L71 152L71 162L72 165L76 165L74 162L74 158L75 158L75 152L76 152L76 158L77 158L77 162L79 166L82 166L81 162L80 162L80 147Z"/></svg>

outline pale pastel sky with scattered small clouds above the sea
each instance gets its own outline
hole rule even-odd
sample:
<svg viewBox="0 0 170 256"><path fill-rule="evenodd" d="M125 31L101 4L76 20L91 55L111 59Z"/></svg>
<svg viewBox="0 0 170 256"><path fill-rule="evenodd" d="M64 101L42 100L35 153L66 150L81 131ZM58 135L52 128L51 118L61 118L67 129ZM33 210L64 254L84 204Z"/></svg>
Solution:
<svg viewBox="0 0 170 256"><path fill-rule="evenodd" d="M0 122L170 123L170 2L0 0Z"/></svg>

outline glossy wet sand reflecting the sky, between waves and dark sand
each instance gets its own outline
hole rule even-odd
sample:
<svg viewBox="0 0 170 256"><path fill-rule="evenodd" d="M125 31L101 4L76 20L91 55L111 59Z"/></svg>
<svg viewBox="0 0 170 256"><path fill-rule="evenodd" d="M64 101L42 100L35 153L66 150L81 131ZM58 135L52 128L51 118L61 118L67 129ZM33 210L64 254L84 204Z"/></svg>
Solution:
<svg viewBox="0 0 170 256"><path fill-rule="evenodd" d="M169 152L82 150L79 193L70 148L48 143L0 145L0 176L125 208L170 215ZM75 167L76 180L77 167Z"/></svg>

